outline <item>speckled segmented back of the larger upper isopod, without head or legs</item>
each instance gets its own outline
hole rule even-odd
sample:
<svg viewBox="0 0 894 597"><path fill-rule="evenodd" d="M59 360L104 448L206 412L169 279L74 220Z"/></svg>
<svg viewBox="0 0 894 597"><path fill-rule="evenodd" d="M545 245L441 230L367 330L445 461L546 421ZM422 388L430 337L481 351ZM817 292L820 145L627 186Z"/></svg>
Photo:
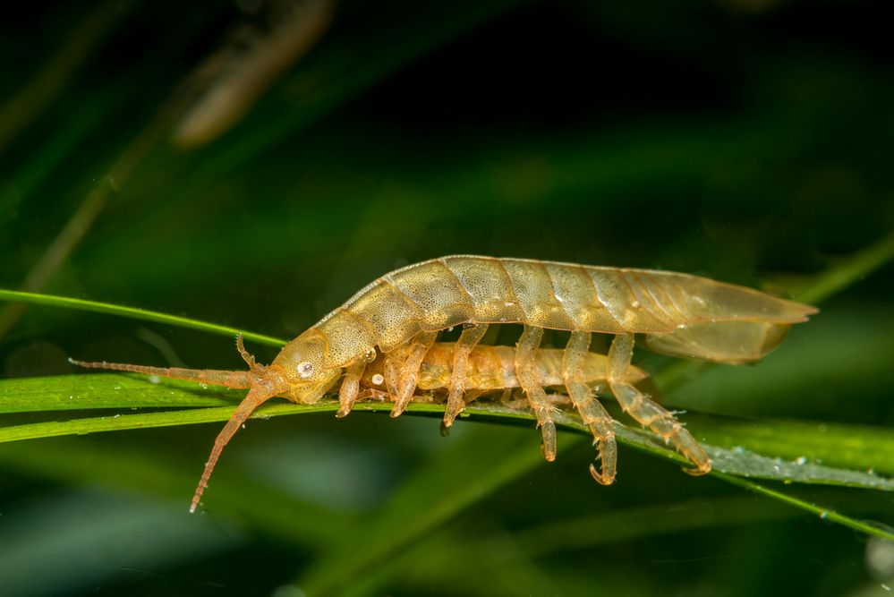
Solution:
<svg viewBox="0 0 894 597"><path fill-rule="evenodd" d="M811 312L751 288L688 274L463 255L379 277L311 330L328 339L324 366L344 367L375 346L387 353L423 332L468 323L663 336L724 321L788 324Z"/></svg>

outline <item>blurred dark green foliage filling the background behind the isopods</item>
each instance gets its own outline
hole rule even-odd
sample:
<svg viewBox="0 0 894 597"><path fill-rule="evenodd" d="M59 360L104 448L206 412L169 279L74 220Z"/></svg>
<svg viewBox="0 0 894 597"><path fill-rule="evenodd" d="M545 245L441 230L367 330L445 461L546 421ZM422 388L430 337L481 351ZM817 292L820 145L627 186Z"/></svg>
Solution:
<svg viewBox="0 0 894 597"><path fill-rule="evenodd" d="M890 3L18 10L0 23L6 288L289 338L374 277L450 253L675 269L792 295L894 228ZM208 99L231 83L239 101ZM184 136L215 101L244 109ZM782 442L786 421L890 433L891 273L822 303L765 362L677 376L665 403L772 422ZM70 355L242 366L230 341L193 330L2 309L6 378L70 372ZM644 351L636 362L658 380L675 366ZM189 516L216 433L0 446L3 593L873 595L894 584L890 542L623 447L604 488L586 473L588 442L563 434L545 465L525 426L461 422L441 438L432 418L251 422L206 511ZM784 489L894 520L890 493Z"/></svg>

